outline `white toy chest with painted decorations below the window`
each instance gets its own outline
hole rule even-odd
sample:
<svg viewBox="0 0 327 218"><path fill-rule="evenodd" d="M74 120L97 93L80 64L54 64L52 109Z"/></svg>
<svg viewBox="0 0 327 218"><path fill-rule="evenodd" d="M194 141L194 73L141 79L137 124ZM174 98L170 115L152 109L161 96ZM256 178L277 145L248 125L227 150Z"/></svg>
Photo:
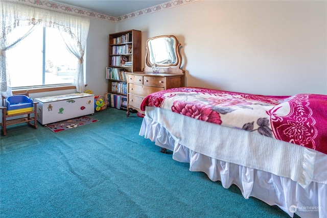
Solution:
<svg viewBox="0 0 327 218"><path fill-rule="evenodd" d="M94 114L94 95L73 93L57 96L35 98L37 104L37 121L42 125Z"/></svg>

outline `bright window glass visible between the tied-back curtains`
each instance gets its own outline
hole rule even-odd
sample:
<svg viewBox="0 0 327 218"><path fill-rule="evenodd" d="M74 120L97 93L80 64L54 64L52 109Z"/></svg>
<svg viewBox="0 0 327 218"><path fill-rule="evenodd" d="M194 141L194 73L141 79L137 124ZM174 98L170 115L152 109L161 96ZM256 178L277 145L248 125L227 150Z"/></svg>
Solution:
<svg viewBox="0 0 327 218"><path fill-rule="evenodd" d="M13 34L24 35L27 28L15 28ZM6 58L13 89L72 85L78 64L58 29L42 26L8 50Z"/></svg>

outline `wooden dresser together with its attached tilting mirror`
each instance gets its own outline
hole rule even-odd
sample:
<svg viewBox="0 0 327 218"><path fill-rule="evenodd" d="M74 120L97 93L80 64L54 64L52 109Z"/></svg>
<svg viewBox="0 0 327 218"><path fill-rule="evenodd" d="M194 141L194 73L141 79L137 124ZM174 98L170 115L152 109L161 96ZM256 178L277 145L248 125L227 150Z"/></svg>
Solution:
<svg viewBox="0 0 327 218"><path fill-rule="evenodd" d="M180 68L180 45L173 35L147 40L143 71L126 72L127 116L130 110L144 114L141 103L149 94L184 86L185 71Z"/></svg>

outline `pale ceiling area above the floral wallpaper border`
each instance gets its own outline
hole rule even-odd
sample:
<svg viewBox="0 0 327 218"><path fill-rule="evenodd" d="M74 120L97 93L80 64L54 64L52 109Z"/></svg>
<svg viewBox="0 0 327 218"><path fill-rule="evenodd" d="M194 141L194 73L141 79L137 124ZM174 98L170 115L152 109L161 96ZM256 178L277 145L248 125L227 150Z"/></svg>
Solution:
<svg viewBox="0 0 327 218"><path fill-rule="evenodd" d="M125 14L136 12L138 10L150 8L170 1L159 0L50 0L49 2L68 5L91 12L119 17Z"/></svg>

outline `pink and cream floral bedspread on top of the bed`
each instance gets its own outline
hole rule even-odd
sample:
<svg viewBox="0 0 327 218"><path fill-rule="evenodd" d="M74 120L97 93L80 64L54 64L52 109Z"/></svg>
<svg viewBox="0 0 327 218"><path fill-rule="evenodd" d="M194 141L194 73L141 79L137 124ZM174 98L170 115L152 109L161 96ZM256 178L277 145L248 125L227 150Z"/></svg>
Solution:
<svg viewBox="0 0 327 218"><path fill-rule="evenodd" d="M196 87L148 95L141 104L239 128L327 154L327 95L267 96Z"/></svg>

